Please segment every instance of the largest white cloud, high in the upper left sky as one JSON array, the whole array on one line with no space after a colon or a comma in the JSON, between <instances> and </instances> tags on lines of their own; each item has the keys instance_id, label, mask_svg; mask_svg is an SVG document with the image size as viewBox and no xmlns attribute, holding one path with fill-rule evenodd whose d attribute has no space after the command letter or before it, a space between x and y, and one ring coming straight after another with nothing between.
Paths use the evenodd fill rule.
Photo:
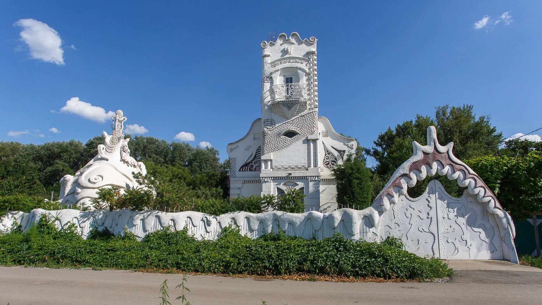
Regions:
<instances>
[{"instance_id":1,"label":"largest white cloud, high in the upper left sky","mask_svg":"<svg viewBox=\"0 0 542 305\"><path fill-rule=\"evenodd\" d=\"M21 41L28 45L30 56L44 62L64 64L62 39L49 25L34 19L20 19L13 25L23 28Z\"/></svg>"}]
</instances>

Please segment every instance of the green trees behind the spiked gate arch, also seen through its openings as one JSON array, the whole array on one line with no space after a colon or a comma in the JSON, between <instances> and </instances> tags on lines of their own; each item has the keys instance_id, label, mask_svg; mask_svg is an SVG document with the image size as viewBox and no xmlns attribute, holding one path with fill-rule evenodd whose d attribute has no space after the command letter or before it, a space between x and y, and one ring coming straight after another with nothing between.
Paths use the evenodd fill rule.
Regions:
<instances>
[{"instance_id":1,"label":"green trees behind the spiked gate arch, also seen through its openings","mask_svg":"<svg viewBox=\"0 0 542 305\"><path fill-rule=\"evenodd\" d=\"M412 156L412 141L425 145L427 127L435 126L441 145L454 142L454 155L461 159L473 155L491 155L502 140L502 133L496 132L486 115L476 117L472 105L450 107L448 105L435 108L435 117L416 115L414 120L404 121L395 129L388 128L380 133L375 146L366 148L365 153L375 158L377 165L373 171L382 181L388 181L401 164ZM435 177L452 196L461 196L464 187L446 177ZM418 181L408 192L411 197L418 197L425 190L431 179Z\"/></svg>"}]
</instances>

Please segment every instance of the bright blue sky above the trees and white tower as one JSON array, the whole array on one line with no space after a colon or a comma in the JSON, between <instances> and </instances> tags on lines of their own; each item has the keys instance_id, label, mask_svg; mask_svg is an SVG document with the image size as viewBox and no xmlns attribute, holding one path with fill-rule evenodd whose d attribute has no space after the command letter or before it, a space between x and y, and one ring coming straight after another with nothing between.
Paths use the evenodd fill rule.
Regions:
<instances>
[{"instance_id":1,"label":"bright blue sky above the trees and white tower","mask_svg":"<svg viewBox=\"0 0 542 305\"><path fill-rule=\"evenodd\" d=\"M227 158L260 117L268 31L318 38L320 115L364 146L446 103L510 137L542 127L540 16L539 1L3 1L0 140L86 142L122 109L144 135L191 133Z\"/></svg>"}]
</instances>

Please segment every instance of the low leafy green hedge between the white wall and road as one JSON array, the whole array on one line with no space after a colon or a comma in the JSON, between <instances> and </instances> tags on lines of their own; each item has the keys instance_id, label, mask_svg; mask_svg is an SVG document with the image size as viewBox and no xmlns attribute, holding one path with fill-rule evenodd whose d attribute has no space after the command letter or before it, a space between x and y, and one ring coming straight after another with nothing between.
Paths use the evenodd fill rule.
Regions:
<instances>
[{"instance_id":1,"label":"low leafy green hedge between the white wall and road","mask_svg":"<svg viewBox=\"0 0 542 305\"><path fill-rule=\"evenodd\" d=\"M397 241L351 241L336 234L321 241L283 233L251 239L225 228L216 241L164 229L138 242L131 233L96 231L83 240L75 226L56 230L42 218L28 231L0 236L0 264L117 269L176 269L215 274L314 274L424 279L451 275L438 259L418 257Z\"/></svg>"}]
</instances>

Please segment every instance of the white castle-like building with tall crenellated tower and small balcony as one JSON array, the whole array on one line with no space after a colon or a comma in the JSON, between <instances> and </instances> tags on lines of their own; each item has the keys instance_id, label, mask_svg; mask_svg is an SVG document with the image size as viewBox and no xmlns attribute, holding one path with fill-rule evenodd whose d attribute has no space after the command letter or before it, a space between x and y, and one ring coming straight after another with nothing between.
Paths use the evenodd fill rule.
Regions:
<instances>
[{"instance_id":1,"label":"white castle-like building with tall crenellated tower and small balcony","mask_svg":"<svg viewBox=\"0 0 542 305\"><path fill-rule=\"evenodd\" d=\"M332 169L356 141L318 116L317 39L298 33L262 42L262 117L228 144L230 197L280 195L301 189L306 210L337 208Z\"/></svg>"}]
</instances>

